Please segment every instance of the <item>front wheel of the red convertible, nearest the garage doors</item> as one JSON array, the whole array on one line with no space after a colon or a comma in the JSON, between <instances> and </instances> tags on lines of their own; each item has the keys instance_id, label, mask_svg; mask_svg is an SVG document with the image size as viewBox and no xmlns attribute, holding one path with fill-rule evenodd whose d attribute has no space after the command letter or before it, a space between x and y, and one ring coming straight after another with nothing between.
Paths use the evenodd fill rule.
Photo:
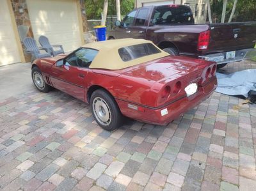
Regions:
<instances>
[{"instance_id":1,"label":"front wheel of the red convertible, nearest the garage doors","mask_svg":"<svg viewBox=\"0 0 256 191\"><path fill-rule=\"evenodd\" d=\"M42 72L37 66L32 68L31 77L38 91L42 91L44 93L50 91L51 86L45 83Z\"/></svg>"}]
</instances>

